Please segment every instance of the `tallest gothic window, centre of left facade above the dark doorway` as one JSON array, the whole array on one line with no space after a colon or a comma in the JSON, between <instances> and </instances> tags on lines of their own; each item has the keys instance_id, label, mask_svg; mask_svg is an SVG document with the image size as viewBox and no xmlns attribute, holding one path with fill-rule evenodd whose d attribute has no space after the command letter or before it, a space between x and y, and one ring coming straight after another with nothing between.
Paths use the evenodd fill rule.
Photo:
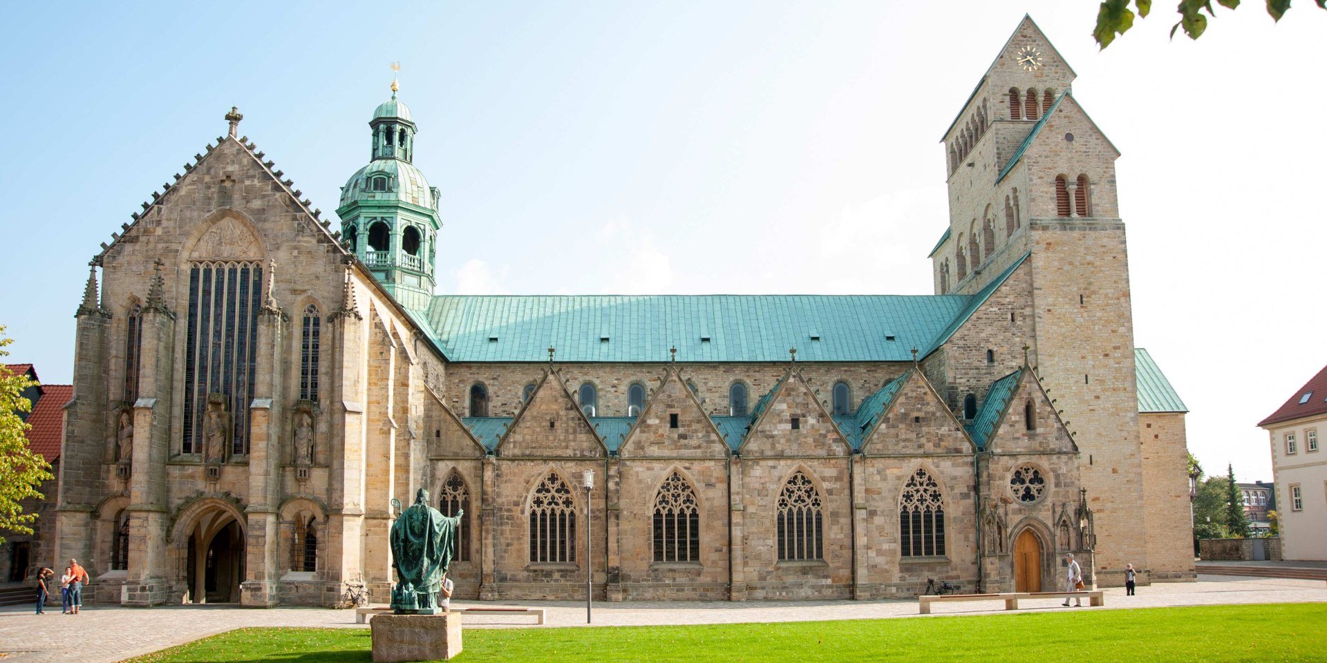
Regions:
<instances>
[{"instance_id":1,"label":"tallest gothic window, centre of left facade above the dark doorway","mask_svg":"<svg viewBox=\"0 0 1327 663\"><path fill-rule=\"evenodd\" d=\"M208 394L224 396L231 415L231 453L248 453L261 282L259 263L195 263L190 268L182 453L203 451Z\"/></svg>"}]
</instances>

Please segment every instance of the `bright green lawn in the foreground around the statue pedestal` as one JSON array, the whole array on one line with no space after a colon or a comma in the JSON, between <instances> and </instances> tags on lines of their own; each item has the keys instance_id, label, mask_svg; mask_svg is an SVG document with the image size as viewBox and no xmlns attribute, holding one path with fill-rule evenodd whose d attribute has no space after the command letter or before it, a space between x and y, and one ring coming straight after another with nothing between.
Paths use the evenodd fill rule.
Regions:
<instances>
[{"instance_id":1,"label":"bright green lawn in the foreground around the statue pedestal","mask_svg":"<svg viewBox=\"0 0 1327 663\"><path fill-rule=\"evenodd\" d=\"M1243 662L1327 660L1327 603L1056 610L922 619L470 629L480 662ZM133 663L368 662L360 629L242 629Z\"/></svg>"}]
</instances>

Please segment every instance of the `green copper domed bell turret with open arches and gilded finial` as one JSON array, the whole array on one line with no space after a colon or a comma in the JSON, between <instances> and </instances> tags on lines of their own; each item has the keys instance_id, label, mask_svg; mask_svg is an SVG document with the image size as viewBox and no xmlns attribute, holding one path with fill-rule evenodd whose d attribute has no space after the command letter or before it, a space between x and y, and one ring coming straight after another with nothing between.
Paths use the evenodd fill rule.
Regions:
<instances>
[{"instance_id":1,"label":"green copper domed bell turret with open arches and gilded finial","mask_svg":"<svg viewBox=\"0 0 1327 663\"><path fill-rule=\"evenodd\" d=\"M341 187L336 213L356 257L397 301L422 310L433 300L442 220L438 190L411 163L418 127L397 90L393 80L391 98L369 119L370 162Z\"/></svg>"}]
</instances>

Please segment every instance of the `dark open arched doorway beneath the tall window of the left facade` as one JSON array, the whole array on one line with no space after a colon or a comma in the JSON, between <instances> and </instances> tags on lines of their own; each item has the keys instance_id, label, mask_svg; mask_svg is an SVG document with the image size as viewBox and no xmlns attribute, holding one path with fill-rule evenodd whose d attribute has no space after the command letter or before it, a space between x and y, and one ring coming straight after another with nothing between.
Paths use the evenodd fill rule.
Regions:
<instances>
[{"instance_id":1,"label":"dark open arched doorway beneath the tall window of the left facade","mask_svg":"<svg viewBox=\"0 0 1327 663\"><path fill-rule=\"evenodd\" d=\"M188 537L186 575L192 603L239 603L244 581L244 528L218 509L204 513Z\"/></svg>"}]
</instances>

